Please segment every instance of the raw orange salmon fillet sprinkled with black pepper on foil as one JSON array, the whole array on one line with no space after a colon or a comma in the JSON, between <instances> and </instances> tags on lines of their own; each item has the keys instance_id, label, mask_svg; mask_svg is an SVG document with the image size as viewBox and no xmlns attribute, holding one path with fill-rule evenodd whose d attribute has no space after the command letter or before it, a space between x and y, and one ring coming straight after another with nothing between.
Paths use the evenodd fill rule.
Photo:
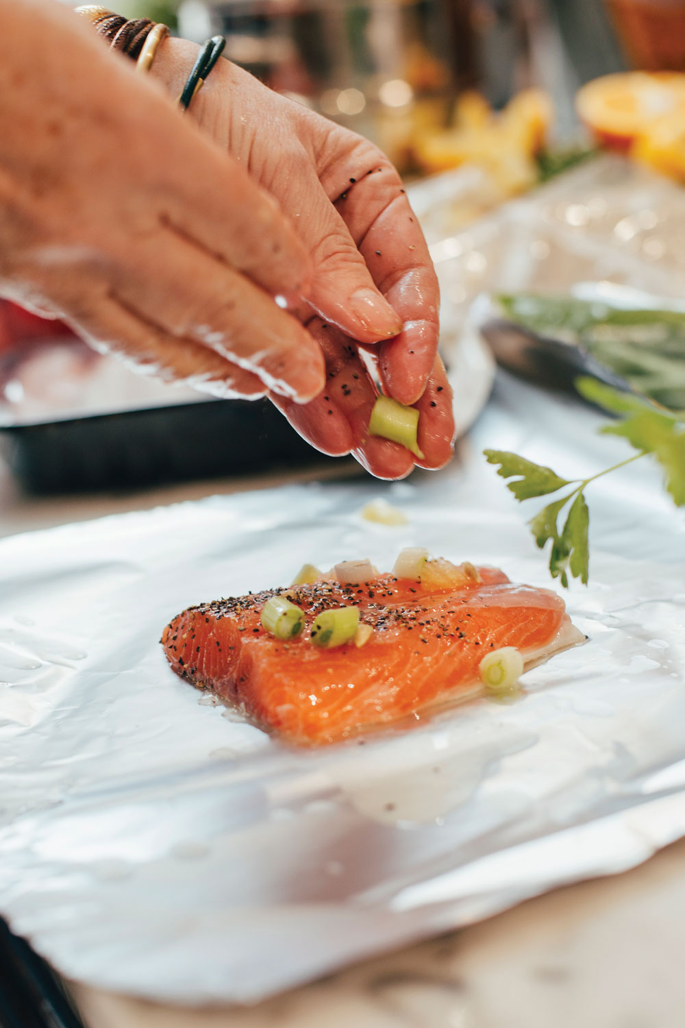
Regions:
<instances>
[{"instance_id":1,"label":"raw orange salmon fillet sprinkled with black pepper on foil","mask_svg":"<svg viewBox=\"0 0 685 1028\"><path fill-rule=\"evenodd\" d=\"M516 647L527 666L581 641L555 592L515 585L479 568L480 582L426 588L390 575L359 585L318 581L192 607L162 634L172 667L290 742L336 742L402 721L479 687L479 664ZM286 595L306 614L295 639L261 624L268 599ZM309 635L321 611L356 605L373 634L330 650Z\"/></svg>"}]
</instances>

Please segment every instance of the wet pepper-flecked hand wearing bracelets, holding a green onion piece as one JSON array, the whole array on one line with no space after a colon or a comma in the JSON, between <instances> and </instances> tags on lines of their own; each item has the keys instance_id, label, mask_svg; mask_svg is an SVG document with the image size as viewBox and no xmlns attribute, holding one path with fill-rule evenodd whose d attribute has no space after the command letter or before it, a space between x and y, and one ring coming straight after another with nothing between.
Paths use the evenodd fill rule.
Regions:
<instances>
[{"instance_id":1,"label":"wet pepper-flecked hand wearing bracelets, holding a green onion piece","mask_svg":"<svg viewBox=\"0 0 685 1028\"><path fill-rule=\"evenodd\" d=\"M181 93L194 44L168 40L155 74ZM452 394L437 347L437 281L397 172L368 140L220 61L190 114L278 200L307 247L313 278L300 317L320 342L327 388L309 404L273 397L324 452L353 452L373 474L401 478L452 455ZM369 437L376 389L416 405L424 460Z\"/></svg>"}]
</instances>

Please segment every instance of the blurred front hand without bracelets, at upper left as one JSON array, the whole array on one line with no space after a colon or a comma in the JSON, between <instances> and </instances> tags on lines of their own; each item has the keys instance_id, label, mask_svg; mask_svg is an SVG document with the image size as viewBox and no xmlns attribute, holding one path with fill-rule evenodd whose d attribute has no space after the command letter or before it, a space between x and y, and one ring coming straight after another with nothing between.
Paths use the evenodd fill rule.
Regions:
<instances>
[{"instance_id":1,"label":"blurred front hand without bracelets, at upper left","mask_svg":"<svg viewBox=\"0 0 685 1028\"><path fill-rule=\"evenodd\" d=\"M216 396L319 394L274 302L310 273L276 203L72 12L0 0L0 295Z\"/></svg>"}]
</instances>

